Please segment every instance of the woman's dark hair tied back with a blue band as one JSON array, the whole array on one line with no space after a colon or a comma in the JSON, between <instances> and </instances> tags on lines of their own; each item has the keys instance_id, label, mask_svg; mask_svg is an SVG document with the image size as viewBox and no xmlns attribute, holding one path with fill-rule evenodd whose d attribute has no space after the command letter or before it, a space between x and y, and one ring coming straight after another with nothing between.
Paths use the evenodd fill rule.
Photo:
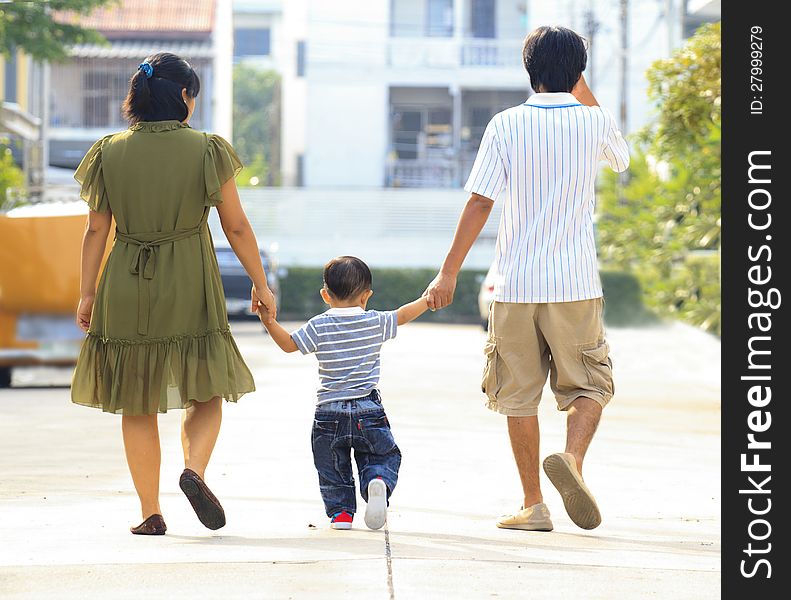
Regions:
<instances>
[{"instance_id":1,"label":"woman's dark hair tied back with a blue band","mask_svg":"<svg viewBox=\"0 0 791 600\"><path fill-rule=\"evenodd\" d=\"M151 65L151 76L139 68L129 80L129 93L121 107L130 125L139 121L183 121L188 110L181 96L195 98L200 92L200 79L190 64L170 52L152 54L143 64ZM147 68L146 68L147 69Z\"/></svg>"}]
</instances>

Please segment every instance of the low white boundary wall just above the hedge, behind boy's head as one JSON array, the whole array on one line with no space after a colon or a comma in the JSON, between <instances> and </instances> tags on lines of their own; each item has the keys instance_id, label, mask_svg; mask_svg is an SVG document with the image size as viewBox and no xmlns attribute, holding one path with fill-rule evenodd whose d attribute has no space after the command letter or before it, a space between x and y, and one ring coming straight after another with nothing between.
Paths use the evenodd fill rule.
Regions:
<instances>
[{"instance_id":1,"label":"low white boundary wall just above the hedge, behind boy's head","mask_svg":"<svg viewBox=\"0 0 791 600\"><path fill-rule=\"evenodd\" d=\"M239 195L259 243L276 242L284 267L319 266L351 254L373 268L436 269L467 200L456 189L240 188ZM498 202L465 269L489 268L501 212ZM214 239L226 243L216 211L209 226Z\"/></svg>"}]
</instances>

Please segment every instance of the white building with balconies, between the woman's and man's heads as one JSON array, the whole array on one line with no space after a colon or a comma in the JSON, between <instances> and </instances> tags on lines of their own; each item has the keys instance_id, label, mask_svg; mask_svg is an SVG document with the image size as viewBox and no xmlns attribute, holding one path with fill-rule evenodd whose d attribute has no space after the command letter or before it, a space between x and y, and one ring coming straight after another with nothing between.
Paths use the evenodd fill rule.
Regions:
<instances>
[{"instance_id":1,"label":"white building with balconies, between the woman's and man's heads","mask_svg":"<svg viewBox=\"0 0 791 600\"><path fill-rule=\"evenodd\" d=\"M525 7L289 0L284 184L459 185L491 116L528 95Z\"/></svg>"}]
</instances>

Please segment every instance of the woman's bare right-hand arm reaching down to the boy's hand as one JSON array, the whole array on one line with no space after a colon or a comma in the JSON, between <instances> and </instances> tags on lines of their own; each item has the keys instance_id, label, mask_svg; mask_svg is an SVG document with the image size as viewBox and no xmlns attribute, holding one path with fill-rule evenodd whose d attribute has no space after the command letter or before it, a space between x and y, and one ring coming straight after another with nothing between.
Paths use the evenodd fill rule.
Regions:
<instances>
[{"instance_id":1,"label":"woman's bare right-hand arm reaching down to the boy's hand","mask_svg":"<svg viewBox=\"0 0 791 600\"><path fill-rule=\"evenodd\" d=\"M236 181L233 178L226 181L220 193L222 202L217 205L217 212L220 215L222 230L248 277L253 281L251 310L256 312L258 310L257 302L260 302L272 314L272 318L275 318L277 316L275 297L269 289L266 273L261 264L258 241L255 239L253 228L250 226L250 221L247 220L247 215L239 200Z\"/></svg>"}]
</instances>

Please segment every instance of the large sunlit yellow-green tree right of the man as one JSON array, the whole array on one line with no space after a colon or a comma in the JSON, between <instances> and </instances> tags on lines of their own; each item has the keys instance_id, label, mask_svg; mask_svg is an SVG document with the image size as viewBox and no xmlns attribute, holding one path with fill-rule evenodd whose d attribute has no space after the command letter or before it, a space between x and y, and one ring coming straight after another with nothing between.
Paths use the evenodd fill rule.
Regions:
<instances>
[{"instance_id":1,"label":"large sunlit yellow-green tree right of the man","mask_svg":"<svg viewBox=\"0 0 791 600\"><path fill-rule=\"evenodd\" d=\"M634 273L646 304L720 331L720 24L701 27L647 73L654 122L635 138L629 178L607 174L599 245L606 268Z\"/></svg>"}]
</instances>

